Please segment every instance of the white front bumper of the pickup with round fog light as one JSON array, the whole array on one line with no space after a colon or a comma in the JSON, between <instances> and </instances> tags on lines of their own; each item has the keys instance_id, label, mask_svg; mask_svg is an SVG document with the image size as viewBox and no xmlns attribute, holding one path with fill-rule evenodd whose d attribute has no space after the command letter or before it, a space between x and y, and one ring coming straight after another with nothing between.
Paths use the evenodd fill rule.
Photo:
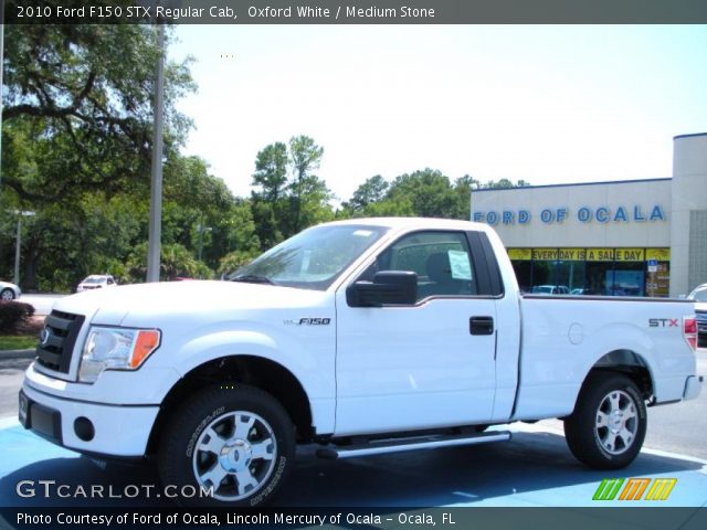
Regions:
<instances>
[{"instance_id":1,"label":"white front bumper of the pickup with round fog light","mask_svg":"<svg viewBox=\"0 0 707 530\"><path fill-rule=\"evenodd\" d=\"M54 444L92 455L144 456L158 412L156 405L108 405L56 398L27 383L20 392L20 423L25 428Z\"/></svg>"}]
</instances>

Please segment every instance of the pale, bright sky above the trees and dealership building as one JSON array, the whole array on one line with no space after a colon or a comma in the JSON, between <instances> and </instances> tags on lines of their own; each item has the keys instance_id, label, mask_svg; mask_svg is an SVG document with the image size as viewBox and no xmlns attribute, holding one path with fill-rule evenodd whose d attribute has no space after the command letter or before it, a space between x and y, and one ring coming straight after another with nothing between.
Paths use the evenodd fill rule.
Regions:
<instances>
[{"instance_id":1,"label":"pale, bright sky above the trees and dealership building","mask_svg":"<svg viewBox=\"0 0 707 530\"><path fill-rule=\"evenodd\" d=\"M672 176L707 131L707 25L179 25L198 93L184 155L250 194L255 157L307 135L348 200L418 169L531 184Z\"/></svg>"}]
</instances>

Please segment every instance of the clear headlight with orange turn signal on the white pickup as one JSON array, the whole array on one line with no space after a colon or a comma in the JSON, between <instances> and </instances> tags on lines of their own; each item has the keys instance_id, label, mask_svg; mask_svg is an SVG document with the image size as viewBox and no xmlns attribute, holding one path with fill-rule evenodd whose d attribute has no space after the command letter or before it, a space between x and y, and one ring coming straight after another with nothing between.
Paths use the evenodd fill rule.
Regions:
<instances>
[{"instance_id":1,"label":"clear headlight with orange turn signal on the white pickup","mask_svg":"<svg viewBox=\"0 0 707 530\"><path fill-rule=\"evenodd\" d=\"M159 347L156 329L92 327L81 356L78 380L93 383L104 370L135 370Z\"/></svg>"}]
</instances>

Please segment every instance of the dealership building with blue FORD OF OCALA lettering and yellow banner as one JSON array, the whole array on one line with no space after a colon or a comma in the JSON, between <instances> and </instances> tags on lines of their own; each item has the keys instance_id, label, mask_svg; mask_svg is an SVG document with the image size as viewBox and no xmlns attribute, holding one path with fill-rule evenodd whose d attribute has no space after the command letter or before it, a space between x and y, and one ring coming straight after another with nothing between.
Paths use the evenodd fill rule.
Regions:
<instances>
[{"instance_id":1,"label":"dealership building with blue FORD OF OCALA lettering and yellow banner","mask_svg":"<svg viewBox=\"0 0 707 530\"><path fill-rule=\"evenodd\" d=\"M496 229L525 292L689 293L707 283L707 132L673 141L671 178L475 190L472 220Z\"/></svg>"}]
</instances>

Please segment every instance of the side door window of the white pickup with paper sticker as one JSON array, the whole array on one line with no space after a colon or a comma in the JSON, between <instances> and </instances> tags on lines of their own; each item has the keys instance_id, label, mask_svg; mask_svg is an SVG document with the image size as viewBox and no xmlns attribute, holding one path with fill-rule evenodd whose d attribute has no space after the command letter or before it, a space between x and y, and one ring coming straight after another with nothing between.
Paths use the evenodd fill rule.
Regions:
<instances>
[{"instance_id":1,"label":"side door window of the white pickup with paper sticker","mask_svg":"<svg viewBox=\"0 0 707 530\"><path fill-rule=\"evenodd\" d=\"M415 232L383 251L360 279L372 279L379 271L412 271L418 274L418 301L472 296L477 287L469 254L461 232Z\"/></svg>"}]
</instances>

